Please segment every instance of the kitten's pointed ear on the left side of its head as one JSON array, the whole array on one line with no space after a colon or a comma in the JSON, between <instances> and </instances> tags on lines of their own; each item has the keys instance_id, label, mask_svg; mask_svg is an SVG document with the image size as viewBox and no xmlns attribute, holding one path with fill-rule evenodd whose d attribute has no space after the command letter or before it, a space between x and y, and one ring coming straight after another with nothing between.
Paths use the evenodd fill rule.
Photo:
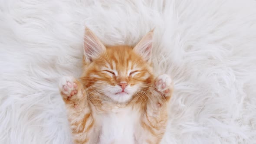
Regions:
<instances>
[{"instance_id":1,"label":"kitten's pointed ear on the left side of its head","mask_svg":"<svg viewBox=\"0 0 256 144\"><path fill-rule=\"evenodd\" d=\"M86 62L92 62L94 58L97 58L102 52L105 51L105 46L95 36L94 33L87 27L85 28L84 35L84 55Z\"/></svg>"}]
</instances>

